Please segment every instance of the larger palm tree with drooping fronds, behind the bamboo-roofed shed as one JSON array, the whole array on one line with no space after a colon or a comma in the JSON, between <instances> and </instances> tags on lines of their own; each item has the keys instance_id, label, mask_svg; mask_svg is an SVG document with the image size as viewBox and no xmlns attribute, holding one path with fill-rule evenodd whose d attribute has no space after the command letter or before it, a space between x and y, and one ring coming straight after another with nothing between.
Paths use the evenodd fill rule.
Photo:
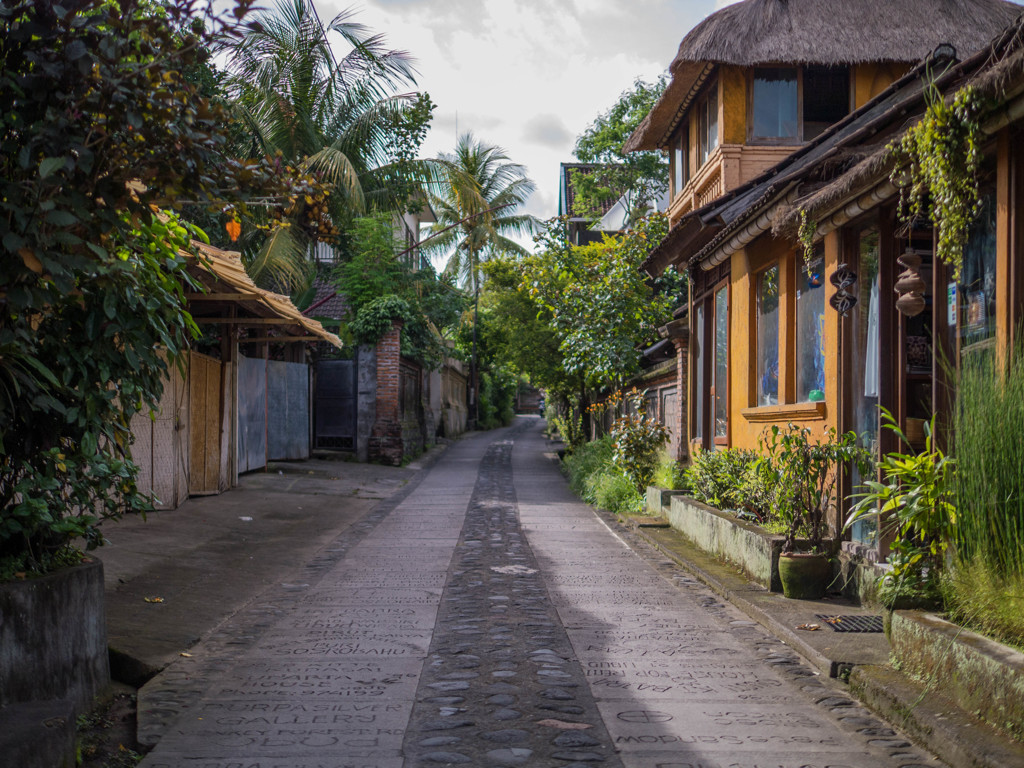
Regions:
<instances>
[{"instance_id":1,"label":"larger palm tree with drooping fronds, behind the bamboo-roofed shed","mask_svg":"<svg viewBox=\"0 0 1024 768\"><path fill-rule=\"evenodd\" d=\"M326 206L335 229L369 210L401 207L409 185L395 183L396 157L408 147L396 146L395 129L423 103L419 94L397 92L416 84L409 54L388 49L351 16L344 11L324 25L312 0L279 0L227 49L237 154L280 154L285 164L332 184ZM340 59L332 34L348 49ZM408 167L402 171L408 177ZM308 281L315 237L262 223L270 224L270 236L251 233L243 248L252 276L291 289Z\"/></svg>"}]
</instances>

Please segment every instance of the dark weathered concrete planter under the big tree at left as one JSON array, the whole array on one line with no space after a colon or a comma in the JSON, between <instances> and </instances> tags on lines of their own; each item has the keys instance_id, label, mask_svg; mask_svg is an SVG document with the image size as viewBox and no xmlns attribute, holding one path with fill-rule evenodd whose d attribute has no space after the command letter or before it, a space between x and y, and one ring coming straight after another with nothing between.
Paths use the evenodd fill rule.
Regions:
<instances>
[{"instance_id":1,"label":"dark weathered concrete planter under the big tree at left","mask_svg":"<svg viewBox=\"0 0 1024 768\"><path fill-rule=\"evenodd\" d=\"M82 713L110 678L99 560L0 584L0 707L66 699Z\"/></svg>"}]
</instances>

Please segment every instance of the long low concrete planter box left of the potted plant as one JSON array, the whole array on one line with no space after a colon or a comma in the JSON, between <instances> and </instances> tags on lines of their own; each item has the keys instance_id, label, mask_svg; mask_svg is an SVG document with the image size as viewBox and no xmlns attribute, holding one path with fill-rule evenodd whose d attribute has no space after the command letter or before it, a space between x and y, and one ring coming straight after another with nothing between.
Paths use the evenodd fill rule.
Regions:
<instances>
[{"instance_id":1,"label":"long low concrete planter box left of the potted plant","mask_svg":"<svg viewBox=\"0 0 1024 768\"><path fill-rule=\"evenodd\" d=\"M672 497L668 516L672 527L705 552L738 565L752 581L766 589L782 591L778 556L785 537L769 534L759 525L737 520L686 496ZM831 548L830 540L824 543Z\"/></svg>"}]
</instances>

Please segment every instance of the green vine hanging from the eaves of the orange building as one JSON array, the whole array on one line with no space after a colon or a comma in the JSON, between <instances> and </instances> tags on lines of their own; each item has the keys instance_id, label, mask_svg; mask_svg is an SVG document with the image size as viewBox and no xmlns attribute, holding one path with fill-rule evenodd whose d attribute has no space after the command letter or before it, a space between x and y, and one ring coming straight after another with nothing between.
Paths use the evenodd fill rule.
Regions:
<instances>
[{"instance_id":1,"label":"green vine hanging from the eaves of the orange building","mask_svg":"<svg viewBox=\"0 0 1024 768\"><path fill-rule=\"evenodd\" d=\"M928 109L898 141L889 145L896 160L890 176L900 189L903 222L931 219L939 230L936 255L959 281L971 222L980 212L978 170L981 166L981 95L974 86L946 101L929 86Z\"/></svg>"}]
</instances>

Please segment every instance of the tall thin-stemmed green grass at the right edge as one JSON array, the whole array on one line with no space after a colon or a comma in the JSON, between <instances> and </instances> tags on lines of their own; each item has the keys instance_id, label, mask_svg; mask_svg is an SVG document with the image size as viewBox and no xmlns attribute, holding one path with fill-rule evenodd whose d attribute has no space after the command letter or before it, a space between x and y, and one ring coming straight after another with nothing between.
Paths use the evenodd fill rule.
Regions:
<instances>
[{"instance_id":1,"label":"tall thin-stemmed green grass at the right edge","mask_svg":"<svg viewBox=\"0 0 1024 768\"><path fill-rule=\"evenodd\" d=\"M989 354L964 360L952 447L957 560L1024 575L1024 344L1005 368Z\"/></svg>"}]
</instances>

